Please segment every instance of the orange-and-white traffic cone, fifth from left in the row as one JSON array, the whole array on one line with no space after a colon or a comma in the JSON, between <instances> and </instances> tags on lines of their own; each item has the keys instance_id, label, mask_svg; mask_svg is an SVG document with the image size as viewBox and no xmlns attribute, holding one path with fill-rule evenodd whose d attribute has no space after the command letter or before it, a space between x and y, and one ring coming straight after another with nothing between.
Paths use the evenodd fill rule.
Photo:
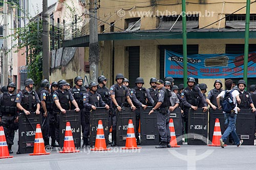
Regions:
<instances>
[{"instance_id":1,"label":"orange-and-white traffic cone, fifth from left in the row","mask_svg":"<svg viewBox=\"0 0 256 170\"><path fill-rule=\"evenodd\" d=\"M133 120L129 119L125 148L122 148L122 150L131 150L131 149L141 149L141 147L137 147L134 128L133 128Z\"/></svg>"}]
</instances>

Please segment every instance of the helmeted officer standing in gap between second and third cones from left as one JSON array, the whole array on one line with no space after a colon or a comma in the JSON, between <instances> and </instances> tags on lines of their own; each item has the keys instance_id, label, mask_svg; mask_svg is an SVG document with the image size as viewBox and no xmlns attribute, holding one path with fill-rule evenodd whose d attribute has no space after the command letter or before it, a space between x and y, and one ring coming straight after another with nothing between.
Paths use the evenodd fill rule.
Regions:
<instances>
[{"instance_id":1,"label":"helmeted officer standing in gap between second and third cones from left","mask_svg":"<svg viewBox=\"0 0 256 170\"><path fill-rule=\"evenodd\" d=\"M50 83L47 79L41 80L40 89L40 101L41 101L41 113L42 113L42 137L45 141L45 146L49 145L49 111L53 109L53 103L48 93Z\"/></svg>"}]
</instances>

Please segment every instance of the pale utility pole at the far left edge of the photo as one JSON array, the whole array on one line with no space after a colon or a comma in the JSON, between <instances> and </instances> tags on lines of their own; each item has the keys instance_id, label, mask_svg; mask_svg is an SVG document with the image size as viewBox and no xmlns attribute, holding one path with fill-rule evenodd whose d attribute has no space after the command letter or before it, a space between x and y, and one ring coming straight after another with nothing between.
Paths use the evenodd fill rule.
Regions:
<instances>
[{"instance_id":1,"label":"pale utility pole at the far left edge of the photo","mask_svg":"<svg viewBox=\"0 0 256 170\"><path fill-rule=\"evenodd\" d=\"M4 46L3 46L3 82L2 87L7 86L8 84L8 9L7 9L7 0L4 0Z\"/></svg>"}]
</instances>

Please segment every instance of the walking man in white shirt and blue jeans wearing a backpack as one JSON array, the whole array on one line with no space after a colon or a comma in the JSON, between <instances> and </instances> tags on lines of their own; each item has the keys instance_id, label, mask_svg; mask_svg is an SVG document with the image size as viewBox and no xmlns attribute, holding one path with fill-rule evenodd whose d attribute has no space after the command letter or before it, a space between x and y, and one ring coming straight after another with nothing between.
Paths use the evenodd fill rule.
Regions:
<instances>
[{"instance_id":1,"label":"walking man in white shirt and blue jeans wearing a backpack","mask_svg":"<svg viewBox=\"0 0 256 170\"><path fill-rule=\"evenodd\" d=\"M227 91L231 91L232 84L233 84L233 81L231 79L228 79L225 81L225 86L227 88ZM232 111L234 111L235 114L232 114L232 111L231 111L231 113L224 113L228 119L228 127L225 130L224 134L220 138L221 148L224 148L224 142L226 141L226 139L230 133L234 139L234 143L238 147L240 147L240 145L243 143L243 140L239 140L238 134L236 132L236 120L237 120L237 114L238 114L237 103L240 104L241 99L239 98L238 90L233 90L231 92L231 94L233 97L233 103L236 104L236 107L232 110ZM221 110L220 98L224 98L224 96L225 96L224 90L217 96L217 104L218 104L218 108L220 110Z\"/></svg>"}]
</instances>

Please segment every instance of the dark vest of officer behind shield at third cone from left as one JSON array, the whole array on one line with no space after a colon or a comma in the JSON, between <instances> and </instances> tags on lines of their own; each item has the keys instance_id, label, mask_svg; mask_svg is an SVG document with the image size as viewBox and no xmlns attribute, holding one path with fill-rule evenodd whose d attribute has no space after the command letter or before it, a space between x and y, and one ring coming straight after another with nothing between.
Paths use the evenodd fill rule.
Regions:
<instances>
[{"instance_id":1,"label":"dark vest of officer behind shield at third cone from left","mask_svg":"<svg viewBox=\"0 0 256 170\"><path fill-rule=\"evenodd\" d=\"M65 90L63 93L61 92L61 90L56 90L56 92L58 93L58 98L59 98L59 104L60 106L65 109L65 110L69 110L70 109L70 104L69 104L69 91ZM55 112L60 112L60 110L57 108L56 104L53 107L53 110Z\"/></svg>"}]
</instances>

